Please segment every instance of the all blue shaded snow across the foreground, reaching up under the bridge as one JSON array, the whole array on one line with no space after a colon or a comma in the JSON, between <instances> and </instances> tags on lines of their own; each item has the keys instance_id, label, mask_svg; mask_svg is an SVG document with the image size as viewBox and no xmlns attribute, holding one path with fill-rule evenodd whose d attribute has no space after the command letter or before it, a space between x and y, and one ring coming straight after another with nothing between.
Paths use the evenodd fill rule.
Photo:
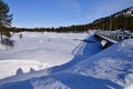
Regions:
<instances>
[{"instance_id":1,"label":"all blue shaded snow across the foreground, reaching up under the bridge","mask_svg":"<svg viewBox=\"0 0 133 89\"><path fill-rule=\"evenodd\" d=\"M94 36L89 36L76 46L72 55L71 61L48 68L47 71L37 71L40 73L38 76L37 72L23 73L2 79L0 88L133 89L133 39L102 50L101 43ZM28 75L33 76L28 77Z\"/></svg>"}]
</instances>

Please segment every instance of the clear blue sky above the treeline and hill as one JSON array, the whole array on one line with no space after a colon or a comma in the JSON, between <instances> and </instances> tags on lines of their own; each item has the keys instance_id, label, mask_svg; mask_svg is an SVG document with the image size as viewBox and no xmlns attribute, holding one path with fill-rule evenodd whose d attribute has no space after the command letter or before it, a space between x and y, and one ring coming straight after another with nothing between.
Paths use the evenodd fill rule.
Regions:
<instances>
[{"instance_id":1,"label":"clear blue sky above the treeline and hill","mask_svg":"<svg viewBox=\"0 0 133 89\"><path fill-rule=\"evenodd\" d=\"M24 28L90 23L133 6L133 0L4 0L12 26Z\"/></svg>"}]
</instances>

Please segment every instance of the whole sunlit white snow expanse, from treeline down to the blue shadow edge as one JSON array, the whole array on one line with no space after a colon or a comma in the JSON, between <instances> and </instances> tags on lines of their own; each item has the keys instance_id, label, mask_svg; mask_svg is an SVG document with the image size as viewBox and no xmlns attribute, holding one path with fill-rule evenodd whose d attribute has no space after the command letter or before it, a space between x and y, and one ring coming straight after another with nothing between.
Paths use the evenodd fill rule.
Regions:
<instances>
[{"instance_id":1,"label":"whole sunlit white snow expanse, from treeline down to the blue shadow edge","mask_svg":"<svg viewBox=\"0 0 133 89\"><path fill-rule=\"evenodd\" d=\"M29 72L59 66L73 58L72 50L88 33L22 32L12 34L14 47L0 44L0 79L16 75L17 69Z\"/></svg>"}]
</instances>

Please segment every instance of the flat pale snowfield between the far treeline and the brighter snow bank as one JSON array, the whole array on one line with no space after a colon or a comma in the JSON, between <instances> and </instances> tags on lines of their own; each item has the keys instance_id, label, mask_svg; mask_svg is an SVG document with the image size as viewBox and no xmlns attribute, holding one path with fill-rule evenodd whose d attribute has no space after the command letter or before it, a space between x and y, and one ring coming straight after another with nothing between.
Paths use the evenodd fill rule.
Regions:
<instances>
[{"instance_id":1,"label":"flat pale snowfield between the far treeline and the brighter snow bank","mask_svg":"<svg viewBox=\"0 0 133 89\"><path fill-rule=\"evenodd\" d=\"M11 39L16 41L14 48L0 51L1 60L28 59L58 66L72 59L71 51L80 43L86 33L22 33L22 39L14 34ZM69 49L68 49L69 48ZM48 60L54 59L54 60ZM63 59L63 60L62 60Z\"/></svg>"}]
</instances>

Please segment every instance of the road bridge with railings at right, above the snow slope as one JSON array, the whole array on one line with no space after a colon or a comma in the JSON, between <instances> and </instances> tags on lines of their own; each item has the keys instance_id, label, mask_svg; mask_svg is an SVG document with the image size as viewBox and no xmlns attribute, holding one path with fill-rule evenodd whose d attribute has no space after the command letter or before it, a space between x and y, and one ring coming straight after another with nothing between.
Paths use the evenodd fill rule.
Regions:
<instances>
[{"instance_id":1,"label":"road bridge with railings at right, above the snow slope","mask_svg":"<svg viewBox=\"0 0 133 89\"><path fill-rule=\"evenodd\" d=\"M96 31L95 37L102 42L104 41L103 48L114 44L125 39L132 39L133 34L124 31Z\"/></svg>"}]
</instances>

